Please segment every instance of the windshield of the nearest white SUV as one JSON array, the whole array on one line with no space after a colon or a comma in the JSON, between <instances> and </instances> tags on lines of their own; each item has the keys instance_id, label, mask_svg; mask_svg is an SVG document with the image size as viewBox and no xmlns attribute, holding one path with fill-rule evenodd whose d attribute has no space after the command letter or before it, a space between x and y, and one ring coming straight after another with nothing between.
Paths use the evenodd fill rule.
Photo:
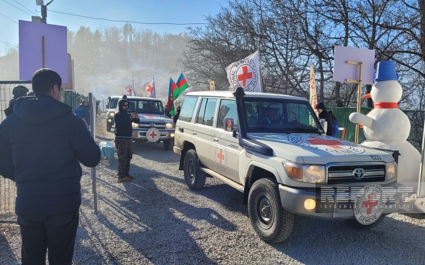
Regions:
<instances>
[{"instance_id":1,"label":"windshield of the nearest white SUV","mask_svg":"<svg viewBox=\"0 0 425 265\"><path fill-rule=\"evenodd\" d=\"M307 101L245 98L247 132L323 133Z\"/></svg>"}]
</instances>

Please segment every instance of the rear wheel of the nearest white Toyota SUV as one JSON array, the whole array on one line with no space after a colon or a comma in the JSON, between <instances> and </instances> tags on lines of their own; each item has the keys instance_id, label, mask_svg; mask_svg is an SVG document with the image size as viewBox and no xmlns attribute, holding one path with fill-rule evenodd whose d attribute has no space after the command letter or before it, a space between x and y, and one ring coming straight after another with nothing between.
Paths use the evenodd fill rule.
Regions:
<instances>
[{"instance_id":1,"label":"rear wheel of the nearest white Toyota SUV","mask_svg":"<svg viewBox=\"0 0 425 265\"><path fill-rule=\"evenodd\" d=\"M198 161L195 150L190 149L186 152L183 163L184 180L192 190L201 189L205 184L206 173L199 169Z\"/></svg>"}]
</instances>

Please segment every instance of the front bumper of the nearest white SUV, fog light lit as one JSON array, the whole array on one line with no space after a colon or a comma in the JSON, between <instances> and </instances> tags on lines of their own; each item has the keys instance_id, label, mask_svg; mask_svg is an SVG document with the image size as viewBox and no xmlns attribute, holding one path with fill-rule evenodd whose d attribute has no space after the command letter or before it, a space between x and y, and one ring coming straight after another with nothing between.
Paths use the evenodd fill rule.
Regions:
<instances>
[{"instance_id":1,"label":"front bumper of the nearest white SUV, fog light lit","mask_svg":"<svg viewBox=\"0 0 425 265\"><path fill-rule=\"evenodd\" d=\"M398 194L387 199L391 191L403 190L403 185L398 182L381 185L384 190L384 207L382 214L396 212L402 208L403 197L407 194ZM354 200L361 187L321 187L299 188L279 184L279 193L282 207L295 214L311 216L321 219L351 219L354 218ZM388 191L388 192L386 192ZM401 192L401 191L400 191ZM312 210L304 208L306 199L314 199L316 207Z\"/></svg>"}]
</instances>

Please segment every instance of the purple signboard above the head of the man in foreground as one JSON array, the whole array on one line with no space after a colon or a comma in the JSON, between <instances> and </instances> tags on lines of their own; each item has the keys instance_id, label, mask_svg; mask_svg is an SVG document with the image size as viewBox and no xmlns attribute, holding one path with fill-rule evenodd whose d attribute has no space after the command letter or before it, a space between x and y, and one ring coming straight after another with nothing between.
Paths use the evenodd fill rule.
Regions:
<instances>
[{"instance_id":1,"label":"purple signboard above the head of the man in foreground","mask_svg":"<svg viewBox=\"0 0 425 265\"><path fill-rule=\"evenodd\" d=\"M19 79L31 80L42 67L68 81L66 26L19 20Z\"/></svg>"}]
</instances>

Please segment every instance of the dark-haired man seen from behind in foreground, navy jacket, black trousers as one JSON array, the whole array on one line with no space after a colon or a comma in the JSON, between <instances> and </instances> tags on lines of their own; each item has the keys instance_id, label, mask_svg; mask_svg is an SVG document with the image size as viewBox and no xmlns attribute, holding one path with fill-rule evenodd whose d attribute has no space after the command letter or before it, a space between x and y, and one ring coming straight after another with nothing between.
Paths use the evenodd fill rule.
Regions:
<instances>
[{"instance_id":1,"label":"dark-haired man seen from behind in foreground, navy jacket, black trousers","mask_svg":"<svg viewBox=\"0 0 425 265\"><path fill-rule=\"evenodd\" d=\"M21 263L71 264L81 204L81 166L94 167L100 149L84 122L60 102L62 80L41 68L35 96L15 100L0 124L0 175L16 183Z\"/></svg>"}]
</instances>

